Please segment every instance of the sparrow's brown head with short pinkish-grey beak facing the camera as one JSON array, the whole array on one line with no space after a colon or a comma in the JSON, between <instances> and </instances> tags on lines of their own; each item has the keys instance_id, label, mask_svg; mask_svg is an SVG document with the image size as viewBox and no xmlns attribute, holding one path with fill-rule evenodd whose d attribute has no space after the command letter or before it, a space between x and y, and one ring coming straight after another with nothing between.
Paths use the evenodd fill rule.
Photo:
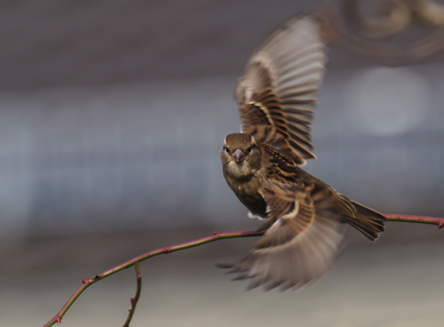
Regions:
<instances>
[{"instance_id":1,"label":"sparrow's brown head with short pinkish-grey beak facing the camera","mask_svg":"<svg viewBox=\"0 0 444 327\"><path fill-rule=\"evenodd\" d=\"M254 137L248 134L229 134L221 151L223 169L231 177L247 177L261 166L261 152Z\"/></svg>"}]
</instances>

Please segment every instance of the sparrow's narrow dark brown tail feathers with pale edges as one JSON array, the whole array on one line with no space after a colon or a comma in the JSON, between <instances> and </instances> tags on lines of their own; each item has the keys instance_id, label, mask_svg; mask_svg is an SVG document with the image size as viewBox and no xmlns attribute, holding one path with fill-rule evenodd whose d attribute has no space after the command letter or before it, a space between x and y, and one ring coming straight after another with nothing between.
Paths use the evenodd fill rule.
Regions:
<instances>
[{"instance_id":1,"label":"sparrow's narrow dark brown tail feathers with pale edges","mask_svg":"<svg viewBox=\"0 0 444 327\"><path fill-rule=\"evenodd\" d=\"M344 210L345 208L341 208L342 210L340 210L341 213L345 213L341 216L345 219L346 223L352 225L372 241L376 240L379 234L384 232L384 222L387 221L387 217L382 213L378 213L346 197L343 197L341 200L343 201L339 201L340 207L342 207L342 205L346 205L347 207L347 210Z\"/></svg>"}]
</instances>

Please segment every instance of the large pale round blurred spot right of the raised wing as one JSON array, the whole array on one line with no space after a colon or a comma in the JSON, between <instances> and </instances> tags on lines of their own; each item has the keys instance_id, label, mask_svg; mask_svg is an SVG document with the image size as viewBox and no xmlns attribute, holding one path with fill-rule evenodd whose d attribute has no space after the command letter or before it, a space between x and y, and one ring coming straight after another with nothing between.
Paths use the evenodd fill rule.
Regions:
<instances>
[{"instance_id":1,"label":"large pale round blurred spot right of the raised wing","mask_svg":"<svg viewBox=\"0 0 444 327\"><path fill-rule=\"evenodd\" d=\"M395 135L412 130L429 109L427 82L405 67L359 71L345 92L349 120L363 134Z\"/></svg>"}]
</instances>

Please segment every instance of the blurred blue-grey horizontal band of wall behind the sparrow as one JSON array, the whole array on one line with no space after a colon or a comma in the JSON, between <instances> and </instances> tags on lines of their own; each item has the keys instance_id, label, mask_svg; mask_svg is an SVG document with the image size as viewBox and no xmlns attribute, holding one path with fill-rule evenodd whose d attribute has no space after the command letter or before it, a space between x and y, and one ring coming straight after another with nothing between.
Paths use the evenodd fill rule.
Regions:
<instances>
[{"instance_id":1,"label":"blurred blue-grey horizontal band of wall behind the sparrow","mask_svg":"<svg viewBox=\"0 0 444 327\"><path fill-rule=\"evenodd\" d=\"M328 71L305 167L393 213L444 213L444 66ZM2 92L0 234L236 223L219 151L235 77Z\"/></svg>"}]
</instances>

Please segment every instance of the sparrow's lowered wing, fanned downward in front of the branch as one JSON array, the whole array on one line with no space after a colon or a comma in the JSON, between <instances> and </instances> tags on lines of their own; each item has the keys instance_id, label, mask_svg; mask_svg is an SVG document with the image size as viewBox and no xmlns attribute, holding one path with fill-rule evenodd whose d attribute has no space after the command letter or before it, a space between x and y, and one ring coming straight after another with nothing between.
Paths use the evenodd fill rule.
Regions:
<instances>
[{"instance_id":1,"label":"sparrow's lowered wing, fanned downward in front of the branch","mask_svg":"<svg viewBox=\"0 0 444 327\"><path fill-rule=\"evenodd\" d=\"M266 182L262 195L274 224L255 247L232 266L237 279L252 279L249 289L301 287L321 278L344 245L345 224L334 216L328 189Z\"/></svg>"}]
</instances>

